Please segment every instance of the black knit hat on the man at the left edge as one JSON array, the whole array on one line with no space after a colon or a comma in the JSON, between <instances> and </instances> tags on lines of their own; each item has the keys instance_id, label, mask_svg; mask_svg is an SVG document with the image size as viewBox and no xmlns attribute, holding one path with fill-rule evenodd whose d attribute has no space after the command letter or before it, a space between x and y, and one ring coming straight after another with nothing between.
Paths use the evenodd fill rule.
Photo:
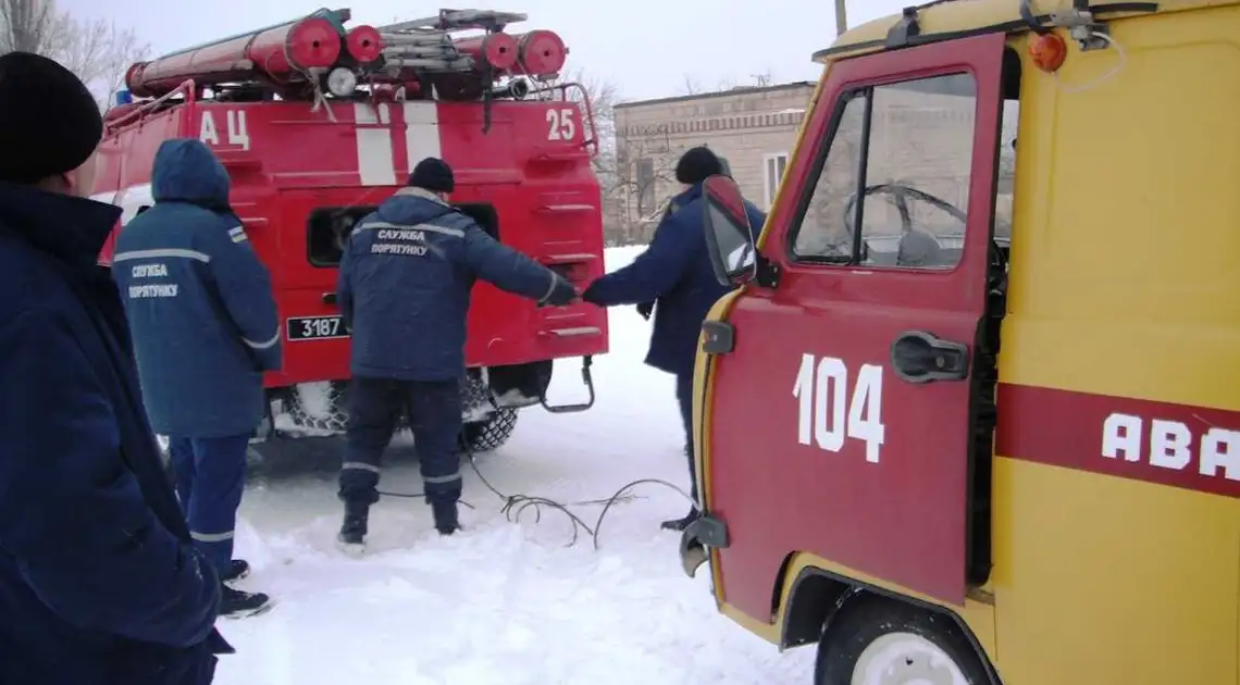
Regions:
<instances>
[{"instance_id":1,"label":"black knit hat on the man at the left edge","mask_svg":"<svg viewBox=\"0 0 1240 685\"><path fill-rule=\"evenodd\" d=\"M68 173L102 139L99 105L73 72L30 52L0 56L0 181Z\"/></svg>"}]
</instances>

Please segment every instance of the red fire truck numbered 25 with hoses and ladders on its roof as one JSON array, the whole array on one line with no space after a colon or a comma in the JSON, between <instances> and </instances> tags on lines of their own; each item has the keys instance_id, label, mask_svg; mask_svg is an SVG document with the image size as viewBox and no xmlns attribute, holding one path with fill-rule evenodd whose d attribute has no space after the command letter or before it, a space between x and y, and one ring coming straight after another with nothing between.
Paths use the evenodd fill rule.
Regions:
<instances>
[{"instance_id":1,"label":"red fire truck numbered 25 with hoses and ladders on its roof","mask_svg":"<svg viewBox=\"0 0 1240 685\"><path fill-rule=\"evenodd\" d=\"M231 203L283 318L284 368L265 378L272 410L259 440L343 430L341 250L424 157L454 167L453 202L492 237L575 284L604 270L594 120L584 89L558 81L568 53L558 35L507 33L526 16L495 11L441 10L383 27L347 28L350 19L347 9L319 10L134 64L125 83L136 99L122 93L129 102L108 111L95 156L93 197L123 207L122 224L153 203L164 140L198 137L228 170ZM463 379L471 448L507 440L518 408L589 408L590 358L606 346L601 308L537 307L479 284ZM589 400L549 405L553 362L578 357Z\"/></svg>"}]
</instances>

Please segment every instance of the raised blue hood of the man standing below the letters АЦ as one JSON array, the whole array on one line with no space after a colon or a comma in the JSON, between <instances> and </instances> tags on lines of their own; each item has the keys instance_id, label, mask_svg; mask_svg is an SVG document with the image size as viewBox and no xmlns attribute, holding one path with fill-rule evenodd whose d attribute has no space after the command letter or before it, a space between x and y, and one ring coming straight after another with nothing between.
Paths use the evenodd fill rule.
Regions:
<instances>
[{"instance_id":1,"label":"raised blue hood of the man standing below the letters \u0410\u0426","mask_svg":"<svg viewBox=\"0 0 1240 685\"><path fill-rule=\"evenodd\" d=\"M165 140L155 152L151 196L155 202L187 202L212 209L228 208L228 172L201 140Z\"/></svg>"}]
</instances>

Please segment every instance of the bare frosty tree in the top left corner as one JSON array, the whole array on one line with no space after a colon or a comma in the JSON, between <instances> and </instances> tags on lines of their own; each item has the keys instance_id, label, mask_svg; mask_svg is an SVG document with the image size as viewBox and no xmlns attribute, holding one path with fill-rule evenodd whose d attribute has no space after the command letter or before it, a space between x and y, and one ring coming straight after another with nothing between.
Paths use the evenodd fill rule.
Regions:
<instances>
[{"instance_id":1,"label":"bare frosty tree in the top left corner","mask_svg":"<svg viewBox=\"0 0 1240 685\"><path fill-rule=\"evenodd\" d=\"M149 46L113 21L78 19L56 0L0 0L0 52L20 50L56 59L78 74L100 102Z\"/></svg>"}]
</instances>

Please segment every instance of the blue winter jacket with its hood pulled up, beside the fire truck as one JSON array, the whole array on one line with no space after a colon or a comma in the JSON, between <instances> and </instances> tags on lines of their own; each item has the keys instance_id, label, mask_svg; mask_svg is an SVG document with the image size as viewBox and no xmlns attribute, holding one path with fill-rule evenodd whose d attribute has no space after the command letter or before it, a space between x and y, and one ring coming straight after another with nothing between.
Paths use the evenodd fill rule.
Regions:
<instances>
[{"instance_id":1,"label":"blue winter jacket with its hood pulled up, beside the fire truck","mask_svg":"<svg viewBox=\"0 0 1240 685\"><path fill-rule=\"evenodd\" d=\"M120 230L113 256L146 411L164 435L247 435L265 414L263 372L281 362L270 276L206 145L165 141L151 194L155 206Z\"/></svg>"}]
</instances>

